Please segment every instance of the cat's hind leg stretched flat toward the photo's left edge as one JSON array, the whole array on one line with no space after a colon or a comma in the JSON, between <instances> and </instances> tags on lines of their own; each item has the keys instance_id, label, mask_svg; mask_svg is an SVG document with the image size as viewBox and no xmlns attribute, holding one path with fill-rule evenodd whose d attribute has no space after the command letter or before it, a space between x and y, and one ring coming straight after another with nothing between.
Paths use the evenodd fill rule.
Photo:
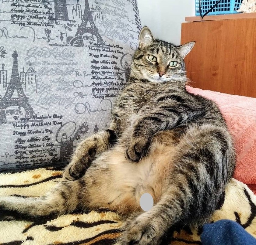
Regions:
<instances>
[{"instance_id":1,"label":"cat's hind leg stretched flat toward the photo's left edge","mask_svg":"<svg viewBox=\"0 0 256 245\"><path fill-rule=\"evenodd\" d=\"M80 180L59 182L43 197L0 197L0 216L15 219L56 217L73 212L79 207Z\"/></svg>"}]
</instances>

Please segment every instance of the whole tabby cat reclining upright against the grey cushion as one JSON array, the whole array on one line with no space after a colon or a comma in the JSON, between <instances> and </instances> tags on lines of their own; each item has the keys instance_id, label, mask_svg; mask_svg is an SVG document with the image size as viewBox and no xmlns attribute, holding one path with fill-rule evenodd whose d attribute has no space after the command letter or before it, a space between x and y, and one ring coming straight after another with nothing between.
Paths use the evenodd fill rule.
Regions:
<instances>
[{"instance_id":1,"label":"whole tabby cat reclining upright against the grey cushion","mask_svg":"<svg viewBox=\"0 0 256 245\"><path fill-rule=\"evenodd\" d=\"M108 209L126 220L119 242L140 245L163 244L171 227L206 222L233 174L235 153L217 105L185 89L183 60L194 44L175 46L144 27L109 127L82 141L47 196L0 197L2 213ZM139 204L144 193L154 200L148 212Z\"/></svg>"}]
</instances>

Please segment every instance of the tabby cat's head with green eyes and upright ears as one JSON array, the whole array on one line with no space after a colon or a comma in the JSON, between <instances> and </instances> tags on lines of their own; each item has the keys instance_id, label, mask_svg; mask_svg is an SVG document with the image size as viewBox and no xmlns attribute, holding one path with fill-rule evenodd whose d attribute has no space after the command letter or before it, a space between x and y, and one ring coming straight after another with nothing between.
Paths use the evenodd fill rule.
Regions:
<instances>
[{"instance_id":1,"label":"tabby cat's head with green eyes and upright ears","mask_svg":"<svg viewBox=\"0 0 256 245\"><path fill-rule=\"evenodd\" d=\"M175 46L155 39L148 27L139 35L139 48L132 62L132 76L150 82L163 83L171 80L186 82L184 58L195 42Z\"/></svg>"}]
</instances>

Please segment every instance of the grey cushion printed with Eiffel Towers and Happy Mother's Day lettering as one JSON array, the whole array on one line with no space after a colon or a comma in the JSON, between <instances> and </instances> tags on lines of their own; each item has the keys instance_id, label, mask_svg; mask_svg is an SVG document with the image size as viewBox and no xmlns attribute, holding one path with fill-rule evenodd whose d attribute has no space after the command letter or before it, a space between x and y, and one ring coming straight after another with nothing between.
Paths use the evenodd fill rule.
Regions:
<instances>
[{"instance_id":1,"label":"grey cushion printed with Eiffel Towers and Happy Mother's Day lettering","mask_svg":"<svg viewBox=\"0 0 256 245\"><path fill-rule=\"evenodd\" d=\"M140 29L136 0L1 3L0 171L67 161L105 127Z\"/></svg>"}]
</instances>

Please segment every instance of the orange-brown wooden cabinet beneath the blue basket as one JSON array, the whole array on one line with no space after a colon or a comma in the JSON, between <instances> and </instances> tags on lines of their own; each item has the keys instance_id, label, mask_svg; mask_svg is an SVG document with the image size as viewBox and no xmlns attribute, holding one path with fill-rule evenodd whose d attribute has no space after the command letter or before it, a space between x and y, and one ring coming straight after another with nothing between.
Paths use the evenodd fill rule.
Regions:
<instances>
[{"instance_id":1,"label":"orange-brown wooden cabinet beneath the blue basket","mask_svg":"<svg viewBox=\"0 0 256 245\"><path fill-rule=\"evenodd\" d=\"M256 13L207 18L182 23L181 43L196 42L185 58L190 85L256 97Z\"/></svg>"}]
</instances>

